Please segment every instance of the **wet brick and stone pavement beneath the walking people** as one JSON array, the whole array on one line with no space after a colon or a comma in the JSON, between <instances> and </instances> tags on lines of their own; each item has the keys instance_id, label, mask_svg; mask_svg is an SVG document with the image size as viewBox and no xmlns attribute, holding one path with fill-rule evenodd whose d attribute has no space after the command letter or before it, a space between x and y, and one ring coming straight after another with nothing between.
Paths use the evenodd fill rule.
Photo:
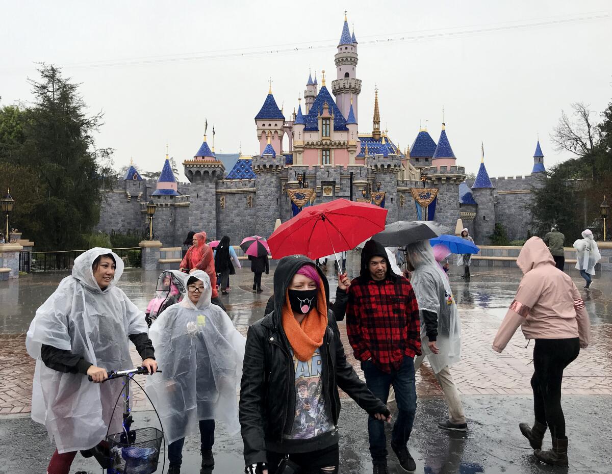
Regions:
<instances>
[{"instance_id":1,"label":"wet brick and stone pavement beneath the walking people","mask_svg":"<svg viewBox=\"0 0 612 474\"><path fill-rule=\"evenodd\" d=\"M349 252L349 276L356 275L359 254ZM332 265L327 269L333 278ZM248 263L247 263L248 267ZM249 268L237 270L231 277L232 289L222 296L234 325L243 334L253 321L263 316L272 294L272 273L263 275L261 294L252 291ZM594 472L610 473L612 449L607 426L612 415L612 275L594 280L594 290L582 290L583 280L576 270L569 274L581 289L591 316L593 341L582 350L565 371L564 409L570 437L569 470L555 470L536 464L528 444L518 432L519 421L532 419L531 387L532 344L520 331L510 341L504 354L491 350L491 341L502 317L512 302L520 281L518 268L474 268L471 283L458 276L451 267L450 280L458 302L462 324L462 360L453 366L452 374L463 395L471 430L465 437L453 437L438 431L435 422L446 413L441 390L433 372L424 364L417 371L419 412L411 441L411 451L418 454L419 473L476 472ZM567 271L567 270L566 270ZM28 275L19 280L0 282L0 473L44 472L48 446L44 428L28 418L34 361L23 346L24 332L35 309L54 291L65 274ZM158 272L126 270L119 286L140 308L146 307L154 294ZM330 281L335 288L335 281ZM334 292L332 291L332 296ZM345 324L339 325L349 360L360 374L346 339ZM135 363L138 356L133 352ZM362 376L362 374L360 374ZM153 415L143 394L135 391L137 417L147 426ZM346 397L346 396L345 396ZM367 449L365 414L353 401L343 398L340 420L342 472L371 472ZM549 442L550 443L550 442ZM603 454L595 457L598 449ZM215 472L242 472L242 442L229 436L220 426L215 443ZM183 472L198 472L198 447L195 438L185 445ZM390 456L390 460L394 456ZM417 456L415 456L417 459ZM25 468L24 466L28 466ZM94 469L94 464L77 457L72 472ZM401 472L400 468L390 472ZM159 470L161 472L161 470Z\"/></svg>"}]
</instances>

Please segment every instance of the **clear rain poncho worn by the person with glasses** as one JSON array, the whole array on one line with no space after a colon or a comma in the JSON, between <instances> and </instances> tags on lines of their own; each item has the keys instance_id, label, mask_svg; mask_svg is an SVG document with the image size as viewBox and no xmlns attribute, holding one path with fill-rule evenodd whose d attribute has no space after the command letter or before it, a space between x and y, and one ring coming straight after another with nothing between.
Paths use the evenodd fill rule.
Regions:
<instances>
[{"instance_id":1,"label":"clear rain poncho worn by the person with glasses","mask_svg":"<svg viewBox=\"0 0 612 474\"><path fill-rule=\"evenodd\" d=\"M162 420L167 443L195 431L198 420L224 421L240 429L237 390L242 378L246 339L217 305L211 304L206 272L176 272L204 283L197 306L188 293L151 325L150 337L161 373L147 377L146 391Z\"/></svg>"}]
</instances>

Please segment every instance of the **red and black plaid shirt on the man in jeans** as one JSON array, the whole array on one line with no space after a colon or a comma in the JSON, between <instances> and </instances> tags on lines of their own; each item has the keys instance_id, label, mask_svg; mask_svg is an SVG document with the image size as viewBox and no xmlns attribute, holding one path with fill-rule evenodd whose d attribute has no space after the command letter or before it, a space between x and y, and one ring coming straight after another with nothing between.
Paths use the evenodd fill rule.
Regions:
<instances>
[{"instance_id":1,"label":"red and black plaid shirt on the man in jeans","mask_svg":"<svg viewBox=\"0 0 612 474\"><path fill-rule=\"evenodd\" d=\"M355 358L372 358L384 372L399 369L405 355L421 353L419 305L406 278L351 282L346 333Z\"/></svg>"}]
</instances>

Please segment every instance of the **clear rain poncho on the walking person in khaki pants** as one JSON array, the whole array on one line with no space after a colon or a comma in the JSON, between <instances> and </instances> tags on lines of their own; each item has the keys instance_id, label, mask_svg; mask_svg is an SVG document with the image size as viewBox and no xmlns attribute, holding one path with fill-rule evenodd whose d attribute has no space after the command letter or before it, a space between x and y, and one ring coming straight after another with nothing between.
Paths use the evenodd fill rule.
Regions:
<instances>
[{"instance_id":1,"label":"clear rain poncho on the walking person in khaki pants","mask_svg":"<svg viewBox=\"0 0 612 474\"><path fill-rule=\"evenodd\" d=\"M438 315L436 346L440 352L433 354L427 346L429 339L425 334L423 316L420 314L421 348L423 354L427 355L431 369L437 374L461 358L461 323L457 305L450 289L449 279L436 262L427 240L406 245L406 256L414 267L410 283L417 297L419 310Z\"/></svg>"}]
</instances>

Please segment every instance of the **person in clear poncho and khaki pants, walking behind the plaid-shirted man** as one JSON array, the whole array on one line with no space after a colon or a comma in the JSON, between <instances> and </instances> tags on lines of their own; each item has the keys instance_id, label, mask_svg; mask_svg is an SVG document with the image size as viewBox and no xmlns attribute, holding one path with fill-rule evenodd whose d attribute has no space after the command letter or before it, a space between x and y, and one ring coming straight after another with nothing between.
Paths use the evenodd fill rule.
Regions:
<instances>
[{"instance_id":1,"label":"person in clear poncho and khaki pants, walking behind the plaid-shirted man","mask_svg":"<svg viewBox=\"0 0 612 474\"><path fill-rule=\"evenodd\" d=\"M449 371L449 367L461 358L461 325L449 279L436 262L427 240L406 245L406 264L412 272L410 283L419 303L420 316L422 355L414 359L414 369L418 369L427 357L442 387L449 407L449 420L440 421L438 428L466 431L468 424L461 399Z\"/></svg>"}]
</instances>

